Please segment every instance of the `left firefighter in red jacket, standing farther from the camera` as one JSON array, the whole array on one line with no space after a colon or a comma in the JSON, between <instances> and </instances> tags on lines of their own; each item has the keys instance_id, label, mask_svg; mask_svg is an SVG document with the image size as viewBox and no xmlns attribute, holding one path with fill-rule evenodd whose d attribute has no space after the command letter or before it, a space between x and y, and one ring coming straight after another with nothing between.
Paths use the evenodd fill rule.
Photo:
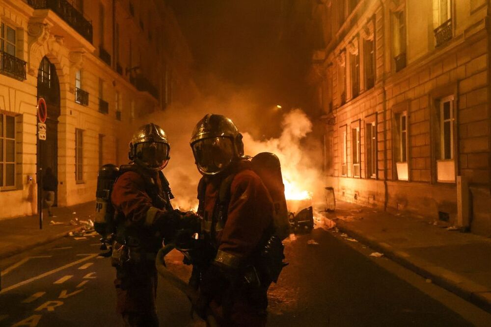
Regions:
<instances>
[{"instance_id":1,"label":"left firefighter in red jacket, standing farther from the camera","mask_svg":"<svg viewBox=\"0 0 491 327\"><path fill-rule=\"evenodd\" d=\"M112 264L117 311L126 326L158 326L155 298L156 253L163 239L171 241L176 231L195 219L173 210L173 198L162 169L169 161L169 143L164 130L141 126L130 143L131 163L123 165L111 201L116 209L116 242Z\"/></svg>"}]
</instances>

